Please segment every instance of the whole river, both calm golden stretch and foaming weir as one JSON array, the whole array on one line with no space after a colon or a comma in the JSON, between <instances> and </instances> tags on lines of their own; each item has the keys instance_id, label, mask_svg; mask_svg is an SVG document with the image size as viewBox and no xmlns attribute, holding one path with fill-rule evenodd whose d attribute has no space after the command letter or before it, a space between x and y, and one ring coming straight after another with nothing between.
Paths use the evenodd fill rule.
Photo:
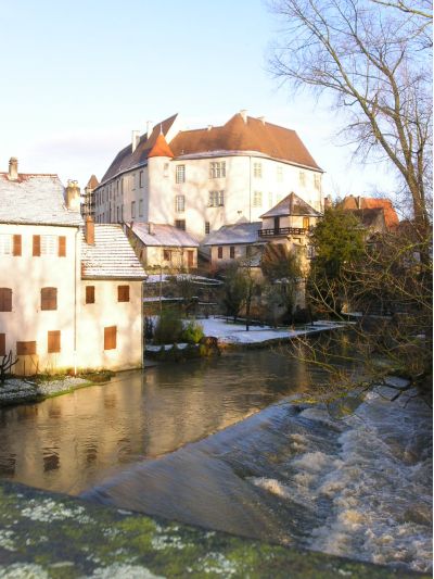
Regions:
<instances>
[{"instance_id":1,"label":"whole river, both calm golden stretch and foaming weir","mask_svg":"<svg viewBox=\"0 0 434 579\"><path fill-rule=\"evenodd\" d=\"M392 403L388 389L340 419L288 401L324 379L267 350L118 375L2 410L0 476L210 529L427 569L430 410L407 394Z\"/></svg>"}]
</instances>

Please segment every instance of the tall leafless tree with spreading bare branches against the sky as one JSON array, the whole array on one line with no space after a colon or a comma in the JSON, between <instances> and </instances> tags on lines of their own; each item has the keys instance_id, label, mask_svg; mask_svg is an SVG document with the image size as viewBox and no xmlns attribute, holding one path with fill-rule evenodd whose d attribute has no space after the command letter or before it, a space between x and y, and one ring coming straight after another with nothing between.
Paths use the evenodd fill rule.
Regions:
<instances>
[{"instance_id":1,"label":"tall leafless tree with spreading bare branches against the sky","mask_svg":"<svg viewBox=\"0 0 434 579\"><path fill-rule=\"evenodd\" d=\"M432 186L427 2L275 0L272 10L284 26L273 73L294 90L334 96L347 113L342 135L363 160L386 160L395 169L424 238Z\"/></svg>"}]
</instances>

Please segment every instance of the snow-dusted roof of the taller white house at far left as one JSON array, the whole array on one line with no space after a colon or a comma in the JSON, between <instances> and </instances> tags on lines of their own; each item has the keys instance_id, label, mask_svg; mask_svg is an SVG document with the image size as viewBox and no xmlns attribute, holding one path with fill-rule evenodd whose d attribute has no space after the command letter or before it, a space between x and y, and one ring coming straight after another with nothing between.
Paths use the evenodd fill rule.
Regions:
<instances>
[{"instance_id":1,"label":"snow-dusted roof of the taller white house at far left","mask_svg":"<svg viewBox=\"0 0 434 579\"><path fill-rule=\"evenodd\" d=\"M79 212L66 207L58 175L0 173L0 223L79 226Z\"/></svg>"}]
</instances>

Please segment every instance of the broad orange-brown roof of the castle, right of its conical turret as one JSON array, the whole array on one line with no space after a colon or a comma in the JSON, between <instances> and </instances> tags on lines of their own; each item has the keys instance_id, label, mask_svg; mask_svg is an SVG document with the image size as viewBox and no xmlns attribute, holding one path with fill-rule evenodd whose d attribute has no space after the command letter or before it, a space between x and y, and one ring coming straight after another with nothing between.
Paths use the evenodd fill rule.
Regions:
<instances>
[{"instance_id":1,"label":"broad orange-brown roof of the castle, right of its conical turret","mask_svg":"<svg viewBox=\"0 0 434 579\"><path fill-rule=\"evenodd\" d=\"M182 130L170 141L175 156L210 152L258 152L272 159L321 171L303 144L289 128L239 113L220 127Z\"/></svg>"}]
</instances>

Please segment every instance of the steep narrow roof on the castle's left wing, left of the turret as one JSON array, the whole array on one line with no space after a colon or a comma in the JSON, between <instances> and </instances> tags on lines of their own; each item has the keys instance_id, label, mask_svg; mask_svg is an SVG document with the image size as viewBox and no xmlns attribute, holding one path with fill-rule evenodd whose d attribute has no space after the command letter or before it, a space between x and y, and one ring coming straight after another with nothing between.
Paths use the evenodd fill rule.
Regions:
<instances>
[{"instance_id":1,"label":"steep narrow roof on the castle's left wing, left of the turret","mask_svg":"<svg viewBox=\"0 0 434 579\"><path fill-rule=\"evenodd\" d=\"M131 143L127 144L127 147L122 149L122 151L119 151L115 156L108 169L105 172L105 175L101 179L101 182L105 182L112 179L118 173L123 173L138 165L143 165L146 162L149 153L154 147L158 135L161 133L164 136L167 135L177 116L178 115L175 114L169 118L157 123L154 126L151 135L142 135L140 137L138 146L136 147L135 152L132 152Z\"/></svg>"}]
</instances>

